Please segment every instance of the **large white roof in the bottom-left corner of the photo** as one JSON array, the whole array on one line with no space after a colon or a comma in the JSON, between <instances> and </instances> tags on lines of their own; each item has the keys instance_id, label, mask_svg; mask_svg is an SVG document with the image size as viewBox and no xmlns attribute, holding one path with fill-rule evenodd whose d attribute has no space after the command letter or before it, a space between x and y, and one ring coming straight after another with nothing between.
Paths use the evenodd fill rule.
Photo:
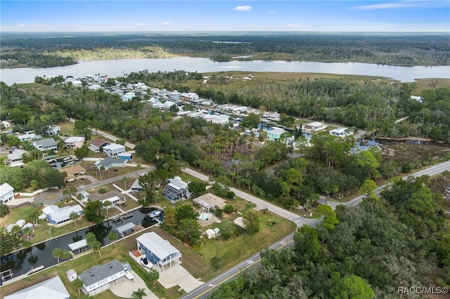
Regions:
<instances>
[{"instance_id":1,"label":"large white roof in the bottom-left corner of the photo","mask_svg":"<svg viewBox=\"0 0 450 299\"><path fill-rule=\"evenodd\" d=\"M63 281L56 276L51 279L34 284L28 288L4 296L4 299L70 299L70 294L65 288Z\"/></svg>"}]
</instances>

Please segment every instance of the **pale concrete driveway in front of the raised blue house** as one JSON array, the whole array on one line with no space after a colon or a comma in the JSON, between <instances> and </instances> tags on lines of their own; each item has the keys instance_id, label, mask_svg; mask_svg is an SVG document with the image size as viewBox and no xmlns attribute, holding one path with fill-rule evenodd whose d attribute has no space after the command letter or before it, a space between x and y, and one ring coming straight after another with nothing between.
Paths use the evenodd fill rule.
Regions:
<instances>
[{"instance_id":1,"label":"pale concrete driveway in front of the raised blue house","mask_svg":"<svg viewBox=\"0 0 450 299\"><path fill-rule=\"evenodd\" d=\"M172 286L179 286L184 289L186 293L189 293L195 288L198 288L203 281L195 279L184 267L181 265L174 265L163 272L160 272L160 278L158 282L165 288L172 288Z\"/></svg>"}]
</instances>

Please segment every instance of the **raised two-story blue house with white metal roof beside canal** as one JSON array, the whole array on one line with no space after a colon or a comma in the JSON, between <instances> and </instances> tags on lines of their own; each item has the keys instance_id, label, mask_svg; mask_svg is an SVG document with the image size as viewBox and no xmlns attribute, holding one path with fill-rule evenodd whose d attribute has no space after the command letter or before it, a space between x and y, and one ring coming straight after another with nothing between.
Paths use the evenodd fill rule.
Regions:
<instances>
[{"instance_id":1,"label":"raised two-story blue house with white metal roof beside canal","mask_svg":"<svg viewBox=\"0 0 450 299\"><path fill-rule=\"evenodd\" d=\"M138 251L160 271L172 267L172 264L181 264L181 252L155 232L142 234L136 238L136 243Z\"/></svg>"}]
</instances>

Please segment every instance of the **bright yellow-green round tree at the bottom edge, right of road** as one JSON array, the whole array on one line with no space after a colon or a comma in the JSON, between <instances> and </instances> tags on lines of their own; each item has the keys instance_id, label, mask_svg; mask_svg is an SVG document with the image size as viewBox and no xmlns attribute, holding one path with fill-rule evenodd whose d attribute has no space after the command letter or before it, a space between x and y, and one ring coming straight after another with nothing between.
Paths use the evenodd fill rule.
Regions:
<instances>
[{"instance_id":1,"label":"bright yellow-green round tree at the bottom edge, right of road","mask_svg":"<svg viewBox=\"0 0 450 299\"><path fill-rule=\"evenodd\" d=\"M335 299L372 299L373 290L361 277L349 275L340 279L330 290Z\"/></svg>"}]
</instances>

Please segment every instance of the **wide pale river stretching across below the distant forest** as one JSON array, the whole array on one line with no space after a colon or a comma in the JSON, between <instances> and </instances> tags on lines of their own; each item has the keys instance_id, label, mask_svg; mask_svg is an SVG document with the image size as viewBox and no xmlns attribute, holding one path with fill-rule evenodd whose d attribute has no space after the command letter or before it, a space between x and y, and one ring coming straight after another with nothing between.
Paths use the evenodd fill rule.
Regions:
<instances>
[{"instance_id":1,"label":"wide pale river stretching across below the distant forest","mask_svg":"<svg viewBox=\"0 0 450 299\"><path fill-rule=\"evenodd\" d=\"M139 58L117 60L83 60L77 65L47 68L0 69L0 81L12 84L32 83L39 77L84 77L86 74L101 74L116 78L147 69L149 72L311 72L326 74L354 74L374 77L388 77L402 82L415 79L450 79L450 65L437 67L397 67L359 62L285 62L285 61L231 61L214 62L208 58Z\"/></svg>"}]
</instances>

